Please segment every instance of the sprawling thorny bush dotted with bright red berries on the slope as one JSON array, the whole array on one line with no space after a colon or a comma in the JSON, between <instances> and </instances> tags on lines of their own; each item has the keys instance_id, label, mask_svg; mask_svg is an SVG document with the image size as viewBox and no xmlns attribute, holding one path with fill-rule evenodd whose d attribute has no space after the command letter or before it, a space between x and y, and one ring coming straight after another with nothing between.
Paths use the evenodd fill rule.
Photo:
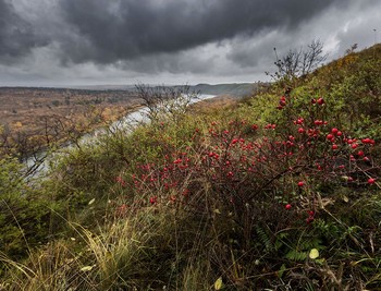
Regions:
<instances>
[{"instance_id":1,"label":"sprawling thorny bush dotted with bright red berries on the slope","mask_svg":"<svg viewBox=\"0 0 381 291\"><path fill-rule=\"evenodd\" d=\"M195 129L183 141L188 146L167 147L171 150L162 159L137 165L126 178L134 198L123 203L136 208L172 205L196 214L218 208L238 223L293 206L300 219L288 215L278 221L287 225L305 221L306 211L314 213L307 217L311 222L319 215L318 201L335 198L334 187L378 186L373 140L356 138L331 124L322 97L306 98L304 117L286 98L281 97L278 124L213 121L204 131Z\"/></svg>"}]
</instances>

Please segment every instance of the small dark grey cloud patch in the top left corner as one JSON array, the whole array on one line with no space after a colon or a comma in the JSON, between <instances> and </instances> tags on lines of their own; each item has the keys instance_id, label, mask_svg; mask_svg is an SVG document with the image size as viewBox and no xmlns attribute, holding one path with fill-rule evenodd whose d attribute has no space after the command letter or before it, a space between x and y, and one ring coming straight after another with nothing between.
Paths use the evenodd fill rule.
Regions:
<instances>
[{"instance_id":1,"label":"small dark grey cloud patch in the top left corner","mask_svg":"<svg viewBox=\"0 0 381 291\"><path fill-rule=\"evenodd\" d=\"M32 48L46 44L47 41L36 35L33 27L15 13L9 1L0 0L0 59L23 56Z\"/></svg>"}]
</instances>

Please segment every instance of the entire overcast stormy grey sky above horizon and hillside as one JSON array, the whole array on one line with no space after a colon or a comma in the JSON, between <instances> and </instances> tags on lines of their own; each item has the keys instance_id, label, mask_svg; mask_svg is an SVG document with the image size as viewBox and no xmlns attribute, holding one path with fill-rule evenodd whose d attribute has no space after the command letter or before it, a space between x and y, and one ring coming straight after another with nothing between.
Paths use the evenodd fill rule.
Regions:
<instances>
[{"instance_id":1,"label":"entire overcast stormy grey sky above horizon and hillside","mask_svg":"<svg viewBox=\"0 0 381 291\"><path fill-rule=\"evenodd\" d=\"M331 60L380 24L380 0L0 0L0 86L266 81L274 47Z\"/></svg>"}]
</instances>

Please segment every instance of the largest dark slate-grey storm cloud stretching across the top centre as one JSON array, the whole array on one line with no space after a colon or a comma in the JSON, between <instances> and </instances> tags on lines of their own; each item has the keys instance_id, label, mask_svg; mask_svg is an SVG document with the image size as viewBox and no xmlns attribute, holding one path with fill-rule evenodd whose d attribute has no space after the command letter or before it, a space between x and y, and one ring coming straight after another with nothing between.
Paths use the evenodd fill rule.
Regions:
<instances>
[{"instance_id":1,"label":"largest dark slate-grey storm cloud stretching across the top centre","mask_svg":"<svg viewBox=\"0 0 381 291\"><path fill-rule=\"evenodd\" d=\"M61 40L66 60L110 63L175 52L263 28L293 29L347 0L60 0L75 37Z\"/></svg>"}]
</instances>

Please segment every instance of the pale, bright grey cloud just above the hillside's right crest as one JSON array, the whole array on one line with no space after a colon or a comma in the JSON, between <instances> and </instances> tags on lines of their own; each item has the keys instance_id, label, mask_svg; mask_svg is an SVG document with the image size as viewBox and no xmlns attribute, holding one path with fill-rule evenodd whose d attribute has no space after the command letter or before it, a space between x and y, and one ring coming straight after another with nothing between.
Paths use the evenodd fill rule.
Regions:
<instances>
[{"instance_id":1,"label":"pale, bright grey cloud just above the hillside's right crest","mask_svg":"<svg viewBox=\"0 0 381 291\"><path fill-rule=\"evenodd\" d=\"M328 49L329 60L332 60L343 56L345 49L355 43L359 44L359 49L373 45L372 28L380 25L381 2L347 1L347 4L348 7L332 7L303 23L297 29L279 27L262 31L253 38L238 37L226 58L242 69L256 68L265 72L274 70L274 47L278 54L283 56L290 49L303 49L314 39L319 39Z\"/></svg>"}]
</instances>

